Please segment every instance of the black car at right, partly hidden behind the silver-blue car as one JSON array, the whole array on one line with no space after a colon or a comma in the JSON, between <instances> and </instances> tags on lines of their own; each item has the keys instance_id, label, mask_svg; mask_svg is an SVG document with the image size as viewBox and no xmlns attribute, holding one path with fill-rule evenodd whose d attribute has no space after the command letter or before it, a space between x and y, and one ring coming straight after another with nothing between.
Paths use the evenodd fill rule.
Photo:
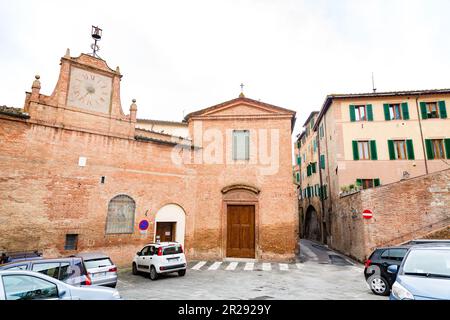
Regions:
<instances>
[{"instance_id":1,"label":"black car at right, partly hidden behind the silver-blue car","mask_svg":"<svg viewBox=\"0 0 450 320\"><path fill-rule=\"evenodd\" d=\"M395 274L388 272L391 265L400 266L410 245L376 249L365 263L364 276L373 293L388 296L395 282Z\"/></svg>"}]
</instances>

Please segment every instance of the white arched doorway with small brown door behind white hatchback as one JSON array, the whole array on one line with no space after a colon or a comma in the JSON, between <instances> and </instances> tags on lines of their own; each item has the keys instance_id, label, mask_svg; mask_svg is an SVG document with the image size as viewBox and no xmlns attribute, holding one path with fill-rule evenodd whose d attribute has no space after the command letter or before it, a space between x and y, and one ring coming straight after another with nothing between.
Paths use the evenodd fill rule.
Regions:
<instances>
[{"instance_id":1,"label":"white arched doorway with small brown door behind white hatchback","mask_svg":"<svg viewBox=\"0 0 450 320\"><path fill-rule=\"evenodd\" d=\"M159 209L155 218L155 241L176 241L184 246L186 214L179 205L168 204Z\"/></svg>"}]
</instances>

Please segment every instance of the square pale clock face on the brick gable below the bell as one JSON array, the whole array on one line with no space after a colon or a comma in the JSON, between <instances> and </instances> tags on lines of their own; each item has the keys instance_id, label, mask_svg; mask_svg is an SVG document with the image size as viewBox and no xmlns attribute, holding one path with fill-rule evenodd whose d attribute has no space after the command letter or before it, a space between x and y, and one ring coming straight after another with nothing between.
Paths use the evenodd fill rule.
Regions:
<instances>
[{"instance_id":1,"label":"square pale clock face on the brick gable below the bell","mask_svg":"<svg viewBox=\"0 0 450 320\"><path fill-rule=\"evenodd\" d=\"M67 105L109 113L112 78L72 67Z\"/></svg>"}]
</instances>

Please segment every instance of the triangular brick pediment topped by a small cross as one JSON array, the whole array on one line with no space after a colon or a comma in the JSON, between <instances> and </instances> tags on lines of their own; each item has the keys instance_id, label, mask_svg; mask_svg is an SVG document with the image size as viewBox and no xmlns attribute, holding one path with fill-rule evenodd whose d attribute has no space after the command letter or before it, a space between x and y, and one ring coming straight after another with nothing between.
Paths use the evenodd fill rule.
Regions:
<instances>
[{"instance_id":1,"label":"triangular brick pediment topped by a small cross","mask_svg":"<svg viewBox=\"0 0 450 320\"><path fill-rule=\"evenodd\" d=\"M245 117L245 116L294 116L295 111L280 108L261 101L243 98L230 100L206 109L192 112L186 120L192 117Z\"/></svg>"}]
</instances>

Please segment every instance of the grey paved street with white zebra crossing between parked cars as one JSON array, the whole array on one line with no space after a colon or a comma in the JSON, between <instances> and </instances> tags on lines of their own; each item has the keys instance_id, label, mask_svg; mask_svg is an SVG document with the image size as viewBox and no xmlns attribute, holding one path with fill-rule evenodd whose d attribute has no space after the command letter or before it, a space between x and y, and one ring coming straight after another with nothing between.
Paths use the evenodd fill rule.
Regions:
<instances>
[{"instance_id":1,"label":"grey paved street with white zebra crossing between parked cars","mask_svg":"<svg viewBox=\"0 0 450 320\"><path fill-rule=\"evenodd\" d=\"M362 265L307 240L301 248L296 263L191 261L185 277L157 281L122 270L117 289L125 299L386 299L367 288Z\"/></svg>"}]
</instances>

